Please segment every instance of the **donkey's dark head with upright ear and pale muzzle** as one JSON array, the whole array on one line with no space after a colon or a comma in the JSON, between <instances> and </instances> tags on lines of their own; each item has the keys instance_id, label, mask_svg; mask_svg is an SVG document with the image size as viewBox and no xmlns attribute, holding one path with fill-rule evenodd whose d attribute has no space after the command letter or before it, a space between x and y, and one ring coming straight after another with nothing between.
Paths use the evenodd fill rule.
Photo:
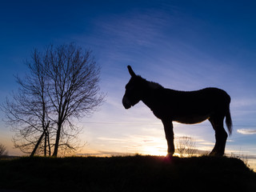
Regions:
<instances>
[{"instance_id":1,"label":"donkey's dark head with upright ear and pale muzzle","mask_svg":"<svg viewBox=\"0 0 256 192\"><path fill-rule=\"evenodd\" d=\"M136 105L142 99L142 88L145 79L136 75L131 66L127 66L130 73L130 81L126 84L126 93L122 98L122 105L127 109Z\"/></svg>"}]
</instances>

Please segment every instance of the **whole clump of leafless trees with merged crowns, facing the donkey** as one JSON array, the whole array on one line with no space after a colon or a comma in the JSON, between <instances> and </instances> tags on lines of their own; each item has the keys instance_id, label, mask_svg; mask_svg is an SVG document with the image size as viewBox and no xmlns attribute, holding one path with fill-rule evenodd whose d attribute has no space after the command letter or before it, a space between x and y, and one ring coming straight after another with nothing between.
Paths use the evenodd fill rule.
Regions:
<instances>
[{"instance_id":1,"label":"whole clump of leafless trees with merged crowns, facing the donkey","mask_svg":"<svg viewBox=\"0 0 256 192\"><path fill-rule=\"evenodd\" d=\"M31 155L50 154L51 147L54 156L59 147L75 150L81 129L74 125L74 118L92 114L104 98L92 52L74 43L47 46L44 52L34 50L27 64L30 74L25 80L17 78L18 94L3 107L7 122L18 130L15 146L32 151Z\"/></svg>"}]
</instances>

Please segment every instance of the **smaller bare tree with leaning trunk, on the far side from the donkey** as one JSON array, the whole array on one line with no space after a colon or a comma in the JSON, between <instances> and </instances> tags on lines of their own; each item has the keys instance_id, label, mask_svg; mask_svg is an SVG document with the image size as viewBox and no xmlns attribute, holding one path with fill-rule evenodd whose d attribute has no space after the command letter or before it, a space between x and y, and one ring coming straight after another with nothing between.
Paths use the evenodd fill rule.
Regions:
<instances>
[{"instance_id":1,"label":"smaller bare tree with leaning trunk, on the far side from the donkey","mask_svg":"<svg viewBox=\"0 0 256 192\"><path fill-rule=\"evenodd\" d=\"M14 146L23 153L31 153L33 156L42 138L49 136L48 111L49 105L47 101L47 81L46 73L42 63L42 58L38 54L38 50L34 50L31 54L31 61L26 61L29 74L24 78L15 76L18 82L18 93L13 93L13 100L6 99L6 103L2 106L6 112L6 123L16 132L13 141ZM45 143L49 147L50 141ZM37 151L40 154L41 151ZM46 155L46 154L45 154Z\"/></svg>"}]
</instances>

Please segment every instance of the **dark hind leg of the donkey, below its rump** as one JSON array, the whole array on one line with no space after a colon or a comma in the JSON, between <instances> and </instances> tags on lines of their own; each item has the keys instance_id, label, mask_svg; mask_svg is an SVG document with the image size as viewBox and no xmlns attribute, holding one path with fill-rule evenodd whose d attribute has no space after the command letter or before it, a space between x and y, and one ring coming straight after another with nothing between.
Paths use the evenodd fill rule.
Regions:
<instances>
[{"instance_id":1,"label":"dark hind leg of the donkey, below its rump","mask_svg":"<svg viewBox=\"0 0 256 192\"><path fill-rule=\"evenodd\" d=\"M223 120L224 116L209 118L211 125L214 127L216 139L214 149L210 152L210 155L222 156L225 152L227 134L223 126Z\"/></svg>"}]
</instances>

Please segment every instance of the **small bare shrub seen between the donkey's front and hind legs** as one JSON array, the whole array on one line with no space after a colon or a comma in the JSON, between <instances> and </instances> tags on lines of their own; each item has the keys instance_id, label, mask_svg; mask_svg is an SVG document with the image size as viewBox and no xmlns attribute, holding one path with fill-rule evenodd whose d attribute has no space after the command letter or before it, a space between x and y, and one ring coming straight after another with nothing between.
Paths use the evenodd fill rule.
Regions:
<instances>
[{"instance_id":1,"label":"small bare shrub seen between the donkey's front and hind legs","mask_svg":"<svg viewBox=\"0 0 256 192\"><path fill-rule=\"evenodd\" d=\"M180 157L191 157L195 153L195 141L192 137L183 136L177 139L176 150Z\"/></svg>"}]
</instances>

